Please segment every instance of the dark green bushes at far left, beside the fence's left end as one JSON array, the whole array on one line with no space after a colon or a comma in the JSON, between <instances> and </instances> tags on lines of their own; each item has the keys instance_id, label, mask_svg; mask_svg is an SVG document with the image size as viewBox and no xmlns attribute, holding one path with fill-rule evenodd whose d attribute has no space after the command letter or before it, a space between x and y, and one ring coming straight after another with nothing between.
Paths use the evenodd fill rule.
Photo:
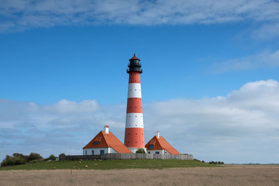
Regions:
<instances>
[{"instance_id":1,"label":"dark green bushes at far left, beside the fence's left end","mask_svg":"<svg viewBox=\"0 0 279 186\"><path fill-rule=\"evenodd\" d=\"M63 155L63 154L61 154ZM13 166L20 164L31 164L44 161L54 161L56 159L55 155L50 155L50 157L43 158L38 153L30 153L30 155L23 155L21 153L13 153L13 156L6 155L6 158L1 162L1 166Z\"/></svg>"}]
</instances>

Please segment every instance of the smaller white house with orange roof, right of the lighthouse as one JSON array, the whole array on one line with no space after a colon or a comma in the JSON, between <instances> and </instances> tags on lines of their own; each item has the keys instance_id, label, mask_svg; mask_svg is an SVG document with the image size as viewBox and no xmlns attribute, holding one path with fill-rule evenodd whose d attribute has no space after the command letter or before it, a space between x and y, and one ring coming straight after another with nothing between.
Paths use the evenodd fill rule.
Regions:
<instances>
[{"instance_id":1,"label":"smaller white house with orange roof, right of the lighthouse","mask_svg":"<svg viewBox=\"0 0 279 186\"><path fill-rule=\"evenodd\" d=\"M180 155L163 137L160 137L159 131L145 146L147 154L169 154Z\"/></svg>"}]
</instances>

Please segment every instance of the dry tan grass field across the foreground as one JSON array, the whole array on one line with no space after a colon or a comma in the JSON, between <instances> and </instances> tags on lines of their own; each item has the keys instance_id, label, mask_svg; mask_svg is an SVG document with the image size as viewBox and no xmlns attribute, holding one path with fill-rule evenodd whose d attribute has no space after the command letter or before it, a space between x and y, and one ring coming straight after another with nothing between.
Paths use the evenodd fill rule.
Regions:
<instances>
[{"instance_id":1,"label":"dry tan grass field across the foreground","mask_svg":"<svg viewBox=\"0 0 279 186\"><path fill-rule=\"evenodd\" d=\"M0 185L279 185L279 166L1 171Z\"/></svg>"}]
</instances>

